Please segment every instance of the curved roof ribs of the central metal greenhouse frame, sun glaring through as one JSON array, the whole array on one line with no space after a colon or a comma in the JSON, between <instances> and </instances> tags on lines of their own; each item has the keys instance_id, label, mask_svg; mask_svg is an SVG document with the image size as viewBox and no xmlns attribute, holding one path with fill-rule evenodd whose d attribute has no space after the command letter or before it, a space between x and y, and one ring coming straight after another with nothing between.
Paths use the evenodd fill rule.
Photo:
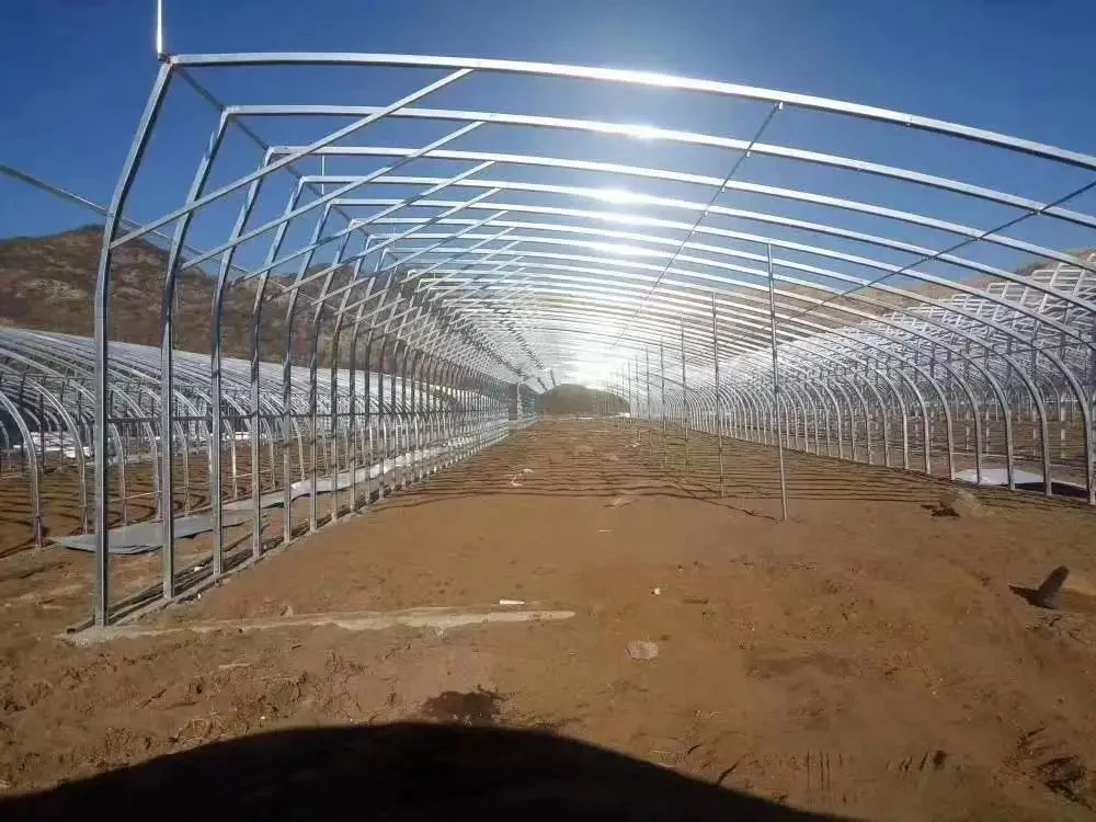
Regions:
<instances>
[{"instance_id":1,"label":"curved roof ribs of the central metal greenhouse frame, sun glaring through","mask_svg":"<svg viewBox=\"0 0 1096 822\"><path fill-rule=\"evenodd\" d=\"M301 94L293 80L323 71L361 79L373 100L353 90L352 102L330 102ZM249 72L270 72L266 88L284 102L227 99L221 89L239 87L226 78ZM1061 418L1069 406L1081 418L1093 486L1096 254L1087 249L1096 235L1074 246L1084 251L1061 246L1062 226L1070 237L1096 231L1084 207L1096 187L1092 155L857 103L642 71L410 55L190 55L164 60L115 212L148 173L146 150L175 78L213 106L190 191L155 219L135 226L127 214L124 228L109 226L104 252L106 261L173 227L165 295L179 271L215 265L222 289L253 281L256 322L287 304L287 319L395 332L397 347L441 346L501 381L543 385L548 370L560 381L604 381L635 373L659 346L692 370L697 396L712 398L737 385L772 391L775 339L777 373L783 362L792 380L863 374L868 393L889 386L900 402L909 397L897 386L933 383L938 404L961 398L974 415L975 404L996 402L1011 421L1020 403L1043 434L1048 408ZM571 94L573 105L563 99ZM635 105L621 102L628 95ZM591 116L591 100L628 116ZM670 122L648 125L658 119L652 100L685 102L665 106ZM812 119L795 119L804 113ZM820 132L836 124L843 139L814 140L803 123ZM258 149L250 164L226 165L236 129ZM924 146L926 161L886 150L889 140ZM1016 158L1008 162L1026 171L956 173L969 157L989 157L993 169ZM1052 169L1059 187L1034 185L1036 167ZM289 185L273 194L278 176ZM235 220L220 218L221 236L203 238L196 244L207 251L184 259L194 218L226 203L238 204L224 212L238 207ZM243 249L254 247L263 251L244 261ZM105 305L105 262L102 274ZM288 350L285 357L288 368ZM170 384L169 375L163 390ZM1049 468L1046 454L1043 461Z\"/></svg>"}]
</instances>

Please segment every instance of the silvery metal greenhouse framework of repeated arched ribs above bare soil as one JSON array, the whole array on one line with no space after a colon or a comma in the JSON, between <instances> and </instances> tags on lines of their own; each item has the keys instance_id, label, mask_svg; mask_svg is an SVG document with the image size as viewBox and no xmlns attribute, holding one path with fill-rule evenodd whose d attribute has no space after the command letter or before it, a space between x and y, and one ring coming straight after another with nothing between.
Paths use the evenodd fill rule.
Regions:
<instances>
[{"instance_id":1,"label":"silvery metal greenhouse framework of repeated arched ribs above bare soil","mask_svg":"<svg viewBox=\"0 0 1096 822\"><path fill-rule=\"evenodd\" d=\"M270 93L228 99L242 95L240 76L267 78ZM336 92L351 102L316 102ZM663 107L671 119L715 112L699 119L726 118L729 133L573 116L560 103L569 94L648 121ZM208 128L180 129L169 110L195 96ZM468 103L493 99L492 110ZM171 129L172 163L192 149L190 186L137 220L132 193L165 179L155 149ZM815 133L852 135L849 152L815 150ZM925 146L924 157L867 156L890 140ZM1027 172L994 173L991 187L941 173L931 161L941 150ZM1061 190L1034 193L1044 180ZM210 443L246 435L248 470L270 471L288 512L294 447L313 479L318 461L332 476L353 471L373 459L338 445L340 432L355 441L358 415L391 457L426 447L431 414L475 408L461 430L486 431L520 415L521 386L549 378L607 388L632 416L686 436L972 471L979 482L995 469L1009 488L1034 476L1048 495L1076 489L1092 504L1096 216L1082 203L1094 187L1087 153L726 82L436 56L165 56L107 209L94 341L4 332L0 344L21 356L38 345L42 357L34 368L3 361L30 376L20 388L3 378L0 396L37 403L39 416L65 408L77 452L94 457L100 623L111 613L109 505L125 495L110 484L127 464L119 455L158 466L162 512L179 493L176 460L204 443L216 575L221 511L239 489L222 486L224 448ZM162 345L111 342L113 255L158 235L170 237L157 284ZM1062 238L1086 250L1062 250ZM189 270L216 283L207 355L172 345ZM232 289L254 294L250 362L220 354ZM281 364L260 362L274 312L285 320ZM295 323L311 329L308 363L294 359ZM324 363L321 331L334 341ZM363 386L368 368L387 377ZM71 385L64 397L61 385ZM389 416L402 444L376 429ZM438 424L429 442L452 442ZM30 444L38 429L25 427ZM318 460L324 452L342 456ZM235 478L235 445L230 458ZM263 488L250 483L255 557ZM310 527L316 510L313 493ZM167 598L174 520L161 516Z\"/></svg>"}]
</instances>

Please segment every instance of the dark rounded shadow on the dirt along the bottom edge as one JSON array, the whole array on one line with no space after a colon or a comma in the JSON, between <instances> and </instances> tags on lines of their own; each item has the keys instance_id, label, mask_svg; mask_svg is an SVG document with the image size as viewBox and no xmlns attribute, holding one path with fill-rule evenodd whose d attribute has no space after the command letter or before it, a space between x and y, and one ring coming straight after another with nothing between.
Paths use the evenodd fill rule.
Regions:
<instances>
[{"instance_id":1,"label":"dark rounded shadow on the dirt along the bottom edge","mask_svg":"<svg viewBox=\"0 0 1096 822\"><path fill-rule=\"evenodd\" d=\"M42 794L0 819L821 820L548 733L443 724L217 742Z\"/></svg>"}]
</instances>

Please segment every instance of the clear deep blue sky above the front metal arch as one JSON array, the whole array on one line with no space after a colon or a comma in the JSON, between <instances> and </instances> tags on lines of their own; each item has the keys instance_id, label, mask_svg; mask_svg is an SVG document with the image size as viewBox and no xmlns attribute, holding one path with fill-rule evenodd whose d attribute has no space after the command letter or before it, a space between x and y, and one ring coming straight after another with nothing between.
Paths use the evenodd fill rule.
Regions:
<instances>
[{"instance_id":1,"label":"clear deep blue sky above the front metal arch","mask_svg":"<svg viewBox=\"0 0 1096 822\"><path fill-rule=\"evenodd\" d=\"M156 71L151 9L151 0L26 0L0 12L0 162L109 201ZM1087 0L168 0L168 46L175 53L392 52L641 68L899 109L1089 153L1096 153L1093 31L1096 3ZM294 93L308 102L377 103L400 91L388 90L380 76L335 73L322 91L307 77L294 82ZM258 77L224 83L209 78L210 88L233 100L263 99L270 88L264 83ZM625 103L589 89L572 96L545 87L544 94L553 113L660 125L669 119L675 127L745 138L763 114L662 98ZM498 100L500 107L522 107L516 90L487 83L455 90L436 104L492 107ZM201 149L201 129L187 130L186 105L176 115L178 137L169 134L158 146L161 157ZM874 126L850 132L808 115L781 114L765 138L884 162L904 158L905 165L1046 198L1086 180L1075 170L994 152L975 156ZM637 153L623 161L642 159ZM769 171L764 162L750 162L750 180L788 184L790 175L801 187L843 184L809 170ZM176 164L174 182L185 185L192 160ZM168 176L171 167L165 161ZM717 164L705 168L718 173ZM871 185L850 187L870 199ZM931 205L933 195L903 196ZM133 216L150 218L170 205L146 192L135 196ZM1073 205L1096 212L1096 196ZM982 227L1007 217L977 204L955 207L941 205L949 217ZM0 178L0 236L87 221L89 216ZM1015 233L1062 247L1089 244L1074 229L1037 220ZM214 241L209 235L205 244Z\"/></svg>"}]
</instances>

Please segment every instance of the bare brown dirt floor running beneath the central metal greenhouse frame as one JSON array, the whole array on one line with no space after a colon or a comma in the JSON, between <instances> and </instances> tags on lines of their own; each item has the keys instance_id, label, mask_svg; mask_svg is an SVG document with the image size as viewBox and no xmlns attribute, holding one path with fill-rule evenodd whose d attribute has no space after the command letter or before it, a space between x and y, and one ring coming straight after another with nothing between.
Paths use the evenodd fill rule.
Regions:
<instances>
[{"instance_id":1,"label":"bare brown dirt floor running beneath the central metal greenhouse frame","mask_svg":"<svg viewBox=\"0 0 1096 822\"><path fill-rule=\"evenodd\" d=\"M1096 578L1092 511L985 492L985 516L935 516L940 481L788 454L781 523L772 449L726 442L720 499L715 442L689 435L687 477L683 446L540 422L144 620L509 598L564 621L76 647L57 635L88 613L91 558L3 560L0 789L261 731L447 719L842 818L1096 817L1096 616L1011 587L1058 564ZM134 562L155 579L155 557ZM658 655L632 659L637 640Z\"/></svg>"}]
</instances>

